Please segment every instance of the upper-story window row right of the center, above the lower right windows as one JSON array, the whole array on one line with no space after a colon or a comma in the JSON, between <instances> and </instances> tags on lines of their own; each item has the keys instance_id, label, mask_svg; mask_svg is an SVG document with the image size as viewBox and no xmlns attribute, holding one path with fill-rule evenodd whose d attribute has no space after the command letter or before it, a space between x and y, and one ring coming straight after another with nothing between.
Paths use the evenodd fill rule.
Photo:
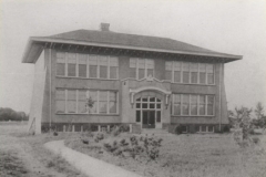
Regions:
<instances>
[{"instance_id":1,"label":"upper-story window row right of the center, above the lower right windows","mask_svg":"<svg viewBox=\"0 0 266 177\"><path fill-rule=\"evenodd\" d=\"M165 80L184 84L214 84L214 64L165 62Z\"/></svg>"}]
</instances>

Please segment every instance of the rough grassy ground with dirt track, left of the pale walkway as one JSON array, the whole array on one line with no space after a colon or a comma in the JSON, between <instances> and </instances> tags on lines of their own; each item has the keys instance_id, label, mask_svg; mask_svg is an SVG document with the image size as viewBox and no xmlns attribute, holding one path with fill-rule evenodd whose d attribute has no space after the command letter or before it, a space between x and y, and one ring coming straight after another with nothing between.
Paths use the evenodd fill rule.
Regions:
<instances>
[{"instance_id":1,"label":"rough grassy ground with dirt track, left of the pale walkway","mask_svg":"<svg viewBox=\"0 0 266 177\"><path fill-rule=\"evenodd\" d=\"M1 177L85 177L60 156L50 153L43 144L50 140L76 137L78 134L28 135L27 124L0 124Z\"/></svg>"}]
</instances>

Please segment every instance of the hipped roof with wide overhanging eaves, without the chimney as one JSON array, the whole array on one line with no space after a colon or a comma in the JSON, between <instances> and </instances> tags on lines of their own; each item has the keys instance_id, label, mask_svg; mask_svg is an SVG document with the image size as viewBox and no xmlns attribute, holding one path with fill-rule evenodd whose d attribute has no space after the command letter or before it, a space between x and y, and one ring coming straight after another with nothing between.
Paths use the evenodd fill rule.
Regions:
<instances>
[{"instance_id":1,"label":"hipped roof with wide overhanging eaves, without the chimney","mask_svg":"<svg viewBox=\"0 0 266 177\"><path fill-rule=\"evenodd\" d=\"M125 34L111 31L76 30L49 37L32 37L29 40L22 62L32 63L39 58L42 48L37 42L95 45L119 49L132 49L152 52L190 54L201 56L225 58L228 61L242 59L241 55L215 52L168 38Z\"/></svg>"}]
</instances>

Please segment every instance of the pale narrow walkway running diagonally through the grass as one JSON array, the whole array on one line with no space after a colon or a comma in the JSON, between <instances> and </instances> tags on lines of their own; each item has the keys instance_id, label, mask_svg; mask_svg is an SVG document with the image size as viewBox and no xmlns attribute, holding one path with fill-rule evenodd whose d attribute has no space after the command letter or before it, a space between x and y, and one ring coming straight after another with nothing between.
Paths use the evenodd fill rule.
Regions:
<instances>
[{"instance_id":1,"label":"pale narrow walkway running diagonally through the grass","mask_svg":"<svg viewBox=\"0 0 266 177\"><path fill-rule=\"evenodd\" d=\"M137 174L127 171L121 167L99 160L82 153L64 146L63 140L49 142L44 147L61 155L76 169L90 177L141 177Z\"/></svg>"}]
</instances>

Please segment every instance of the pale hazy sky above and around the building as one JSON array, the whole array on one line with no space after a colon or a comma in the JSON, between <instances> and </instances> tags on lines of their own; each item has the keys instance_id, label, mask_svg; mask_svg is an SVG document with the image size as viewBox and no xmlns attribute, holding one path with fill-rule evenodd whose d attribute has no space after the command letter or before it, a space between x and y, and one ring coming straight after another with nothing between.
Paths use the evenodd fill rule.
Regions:
<instances>
[{"instance_id":1,"label":"pale hazy sky above and around the building","mask_svg":"<svg viewBox=\"0 0 266 177\"><path fill-rule=\"evenodd\" d=\"M228 108L266 108L266 0L0 0L0 107L30 111L34 64L21 63L29 37L99 30L101 22L243 55L225 64Z\"/></svg>"}]
</instances>

